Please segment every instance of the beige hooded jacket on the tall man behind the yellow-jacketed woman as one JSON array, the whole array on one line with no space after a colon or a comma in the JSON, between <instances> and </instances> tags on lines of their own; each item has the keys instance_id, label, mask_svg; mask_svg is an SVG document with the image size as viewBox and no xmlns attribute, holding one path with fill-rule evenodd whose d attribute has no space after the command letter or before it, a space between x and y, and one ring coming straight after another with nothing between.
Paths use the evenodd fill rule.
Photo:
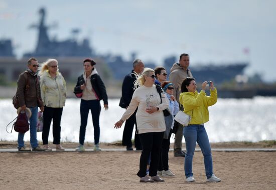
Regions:
<instances>
[{"instance_id":1,"label":"beige hooded jacket on the tall man behind the yellow-jacketed woman","mask_svg":"<svg viewBox=\"0 0 276 190\"><path fill-rule=\"evenodd\" d=\"M181 93L181 84L187 77L193 77L190 69L187 69L187 71L185 71L184 68L179 65L179 63L174 63L171 68L169 81L174 84L173 95L176 97L178 103L179 94Z\"/></svg>"}]
</instances>

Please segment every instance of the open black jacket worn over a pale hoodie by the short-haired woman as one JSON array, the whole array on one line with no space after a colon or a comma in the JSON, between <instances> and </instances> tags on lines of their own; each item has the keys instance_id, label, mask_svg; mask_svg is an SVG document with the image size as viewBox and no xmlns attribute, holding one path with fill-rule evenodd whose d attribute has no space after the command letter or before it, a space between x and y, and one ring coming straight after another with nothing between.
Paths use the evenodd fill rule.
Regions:
<instances>
[{"instance_id":1,"label":"open black jacket worn over a pale hoodie by the short-haired woman","mask_svg":"<svg viewBox=\"0 0 276 190\"><path fill-rule=\"evenodd\" d=\"M105 90L105 86L100 78L100 76L98 74L94 74L91 76L91 85L93 90L95 91L95 93L97 94L99 100L103 100L103 104L108 104L107 101L107 93ZM77 84L74 88L74 92L82 92L82 90L80 89L80 85L84 84L84 78L83 75L78 77L78 81Z\"/></svg>"}]
</instances>

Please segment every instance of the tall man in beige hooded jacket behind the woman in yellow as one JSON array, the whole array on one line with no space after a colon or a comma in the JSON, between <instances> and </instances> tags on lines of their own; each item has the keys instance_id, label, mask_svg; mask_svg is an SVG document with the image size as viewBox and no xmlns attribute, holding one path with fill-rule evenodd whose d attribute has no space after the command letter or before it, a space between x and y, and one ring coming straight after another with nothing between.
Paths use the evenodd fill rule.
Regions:
<instances>
[{"instance_id":1,"label":"tall man in beige hooded jacket behind the woman in yellow","mask_svg":"<svg viewBox=\"0 0 276 190\"><path fill-rule=\"evenodd\" d=\"M176 97L177 102L180 105L180 109L183 111L183 106L179 102L179 95L181 93L181 84L187 77L193 77L191 71L188 69L190 65L190 57L188 54L181 54L179 58L179 63L175 63L171 68L171 73L169 76L169 81L174 84L173 95ZM182 131L183 125L175 122L177 125L177 132L175 134L174 143L174 156L185 156L185 152L182 150Z\"/></svg>"}]
</instances>

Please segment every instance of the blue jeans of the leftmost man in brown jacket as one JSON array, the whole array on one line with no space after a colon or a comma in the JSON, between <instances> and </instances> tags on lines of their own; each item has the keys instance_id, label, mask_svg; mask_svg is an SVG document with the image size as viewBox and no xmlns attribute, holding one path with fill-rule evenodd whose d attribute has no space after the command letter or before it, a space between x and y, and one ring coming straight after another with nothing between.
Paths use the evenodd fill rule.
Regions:
<instances>
[{"instance_id":1,"label":"blue jeans of the leftmost man in brown jacket","mask_svg":"<svg viewBox=\"0 0 276 190\"><path fill-rule=\"evenodd\" d=\"M30 143L32 148L36 148L38 146L37 141L37 120L38 120L38 107L30 108L32 111L32 116L30 117ZM24 145L24 135L25 133L18 133L18 149L25 146Z\"/></svg>"}]
</instances>

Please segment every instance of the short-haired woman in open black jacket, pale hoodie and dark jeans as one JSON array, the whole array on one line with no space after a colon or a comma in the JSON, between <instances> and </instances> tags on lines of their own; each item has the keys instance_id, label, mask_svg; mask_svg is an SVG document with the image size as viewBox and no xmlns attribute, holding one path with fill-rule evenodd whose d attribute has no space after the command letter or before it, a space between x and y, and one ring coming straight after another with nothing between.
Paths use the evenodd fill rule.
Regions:
<instances>
[{"instance_id":1,"label":"short-haired woman in open black jacket, pale hoodie and dark jeans","mask_svg":"<svg viewBox=\"0 0 276 190\"><path fill-rule=\"evenodd\" d=\"M78 81L74 89L74 93L76 95L78 94L78 97L81 97L80 145L76 148L76 151L85 151L83 144L89 110L91 110L94 126L94 151L101 150L99 147L99 117L101 111L100 100L103 100L105 110L108 109L108 102L105 86L96 71L95 65L96 62L92 59L85 59L83 61L84 73L78 77Z\"/></svg>"}]
</instances>

